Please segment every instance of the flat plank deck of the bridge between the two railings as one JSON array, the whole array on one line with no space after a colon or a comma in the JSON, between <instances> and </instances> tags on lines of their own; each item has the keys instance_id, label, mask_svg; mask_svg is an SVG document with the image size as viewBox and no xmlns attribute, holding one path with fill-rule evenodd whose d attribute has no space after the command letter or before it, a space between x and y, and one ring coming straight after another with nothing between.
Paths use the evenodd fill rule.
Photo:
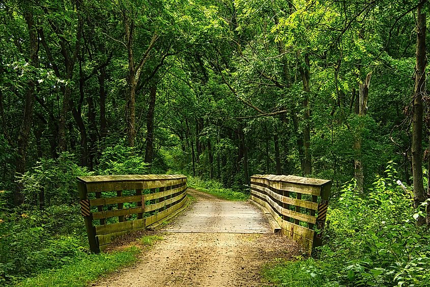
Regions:
<instances>
[{"instance_id":1,"label":"flat plank deck of the bridge between the two railings","mask_svg":"<svg viewBox=\"0 0 430 287\"><path fill-rule=\"evenodd\" d=\"M263 213L248 202L218 199L189 189L199 200L190 210L178 216L166 232L204 233L271 233Z\"/></svg>"}]
</instances>

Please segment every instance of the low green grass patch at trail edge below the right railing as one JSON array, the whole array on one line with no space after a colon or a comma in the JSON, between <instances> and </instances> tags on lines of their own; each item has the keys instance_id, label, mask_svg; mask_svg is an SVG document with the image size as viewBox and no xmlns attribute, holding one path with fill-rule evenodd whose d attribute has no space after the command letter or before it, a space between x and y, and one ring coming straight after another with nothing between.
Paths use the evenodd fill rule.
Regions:
<instances>
[{"instance_id":1,"label":"low green grass patch at trail edge below the right railing","mask_svg":"<svg viewBox=\"0 0 430 287\"><path fill-rule=\"evenodd\" d=\"M264 271L264 278L285 287L320 287L325 281L317 273L317 262L312 258L299 261L286 261L276 259L274 263L268 264Z\"/></svg>"}]
</instances>

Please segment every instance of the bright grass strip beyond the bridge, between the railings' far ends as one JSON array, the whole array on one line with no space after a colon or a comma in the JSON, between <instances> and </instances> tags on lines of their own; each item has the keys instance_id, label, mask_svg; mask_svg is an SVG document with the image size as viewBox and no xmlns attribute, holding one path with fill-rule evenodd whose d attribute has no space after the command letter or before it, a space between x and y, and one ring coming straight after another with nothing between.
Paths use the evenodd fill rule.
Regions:
<instances>
[{"instance_id":1,"label":"bright grass strip beyond the bridge, between the railings' far ends","mask_svg":"<svg viewBox=\"0 0 430 287\"><path fill-rule=\"evenodd\" d=\"M204 180L198 177L187 176L187 185L196 190L203 191L226 200L245 201L249 198L249 195L243 192L223 188L222 184L216 180Z\"/></svg>"}]
</instances>

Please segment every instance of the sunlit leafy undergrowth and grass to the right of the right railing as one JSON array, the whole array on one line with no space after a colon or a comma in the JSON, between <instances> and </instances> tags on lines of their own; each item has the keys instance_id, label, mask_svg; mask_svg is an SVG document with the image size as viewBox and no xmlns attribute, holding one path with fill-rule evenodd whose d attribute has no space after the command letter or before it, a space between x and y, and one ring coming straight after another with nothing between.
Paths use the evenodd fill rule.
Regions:
<instances>
[{"instance_id":1,"label":"sunlit leafy undergrowth and grass to the right of the right railing","mask_svg":"<svg viewBox=\"0 0 430 287\"><path fill-rule=\"evenodd\" d=\"M416 226L420 211L391 163L386 172L365 195L350 182L331 200L318 260L278 261L265 277L280 286L430 286L430 234Z\"/></svg>"}]
</instances>

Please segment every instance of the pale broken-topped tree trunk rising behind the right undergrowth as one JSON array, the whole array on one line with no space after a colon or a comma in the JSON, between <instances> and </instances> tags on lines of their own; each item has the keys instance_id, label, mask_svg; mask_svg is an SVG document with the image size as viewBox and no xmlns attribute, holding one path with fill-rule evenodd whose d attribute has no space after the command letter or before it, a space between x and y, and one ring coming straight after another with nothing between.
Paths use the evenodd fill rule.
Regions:
<instances>
[{"instance_id":1,"label":"pale broken-topped tree trunk rising behind the right undergrowth","mask_svg":"<svg viewBox=\"0 0 430 287\"><path fill-rule=\"evenodd\" d=\"M363 132L364 132L364 121L363 118L367 112L367 98L369 95L369 85L371 79L371 72L367 74L366 80L363 84L359 85L358 92L358 116L360 117L360 123L358 126L357 136L355 138L354 150L355 150L355 159L354 159L354 178L357 182L356 191L360 194L364 192L364 170L363 163L361 162L361 142L363 140Z\"/></svg>"}]
</instances>

